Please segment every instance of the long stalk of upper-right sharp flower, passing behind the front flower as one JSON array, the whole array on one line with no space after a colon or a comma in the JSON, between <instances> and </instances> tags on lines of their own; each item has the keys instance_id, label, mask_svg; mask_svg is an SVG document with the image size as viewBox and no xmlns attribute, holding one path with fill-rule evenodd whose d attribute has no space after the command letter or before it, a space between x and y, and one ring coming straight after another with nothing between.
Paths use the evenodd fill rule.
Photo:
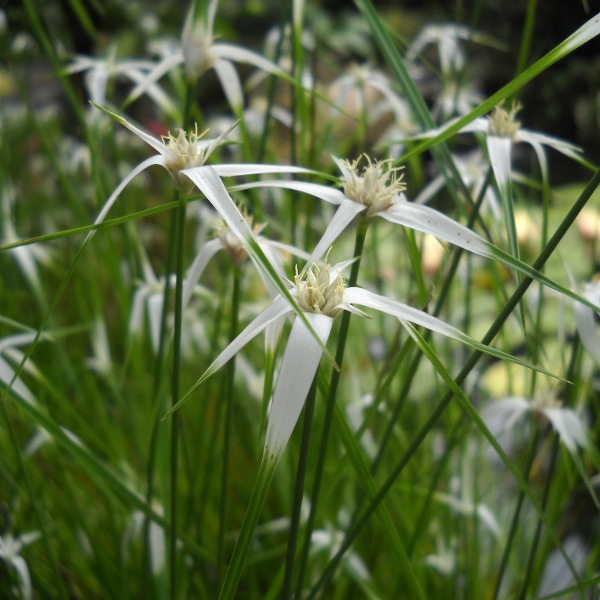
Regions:
<instances>
[{"instance_id":1,"label":"long stalk of upper-right sharp flower, passing behind the front flower","mask_svg":"<svg viewBox=\"0 0 600 600\"><path fill-rule=\"evenodd\" d=\"M356 285L358 279L358 270L360 268L360 259L363 253L363 247L365 243L365 237L367 235L369 223L366 221L359 221L356 229L356 239L354 242L354 253L353 256L356 258L352 264L352 270L348 279L348 287ZM340 330L338 333L338 344L335 353L335 364L338 369L333 369L331 373L331 380L329 384L329 391L327 394L327 401L325 407L325 418L323 422L323 429L321 432L321 443L319 446L319 454L317 458L317 464L315 469L315 475L313 479L313 486L311 490L311 504L308 520L306 523L304 533L304 545L302 547L302 554L300 558L300 564L298 567L298 584L296 588L296 596L300 598L302 596L302 590L304 589L304 579L306 577L306 569L308 566L308 556L310 553L310 540L312 532L315 526L317 505L319 500L319 494L321 491L321 483L323 479L323 472L325 469L325 458L327 455L327 446L331 433L331 425L333 422L333 412L335 408L335 399L337 394L337 388L340 381L342 362L344 360L344 351L346 348L346 339L348 336L348 329L350 326L350 313L344 311L340 323Z\"/></svg>"}]
</instances>

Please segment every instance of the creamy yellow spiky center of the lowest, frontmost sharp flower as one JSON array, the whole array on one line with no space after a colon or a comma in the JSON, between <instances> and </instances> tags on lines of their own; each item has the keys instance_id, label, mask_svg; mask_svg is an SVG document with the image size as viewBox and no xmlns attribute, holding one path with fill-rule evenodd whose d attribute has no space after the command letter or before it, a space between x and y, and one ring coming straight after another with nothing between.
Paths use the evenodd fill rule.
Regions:
<instances>
[{"instance_id":1,"label":"creamy yellow spiky center of the lowest, frontmost sharp flower","mask_svg":"<svg viewBox=\"0 0 600 600\"><path fill-rule=\"evenodd\" d=\"M338 273L331 281L331 267L327 263L314 264L303 275L298 274L296 267L295 276L297 299L300 308L328 317L335 317L341 311L336 308L344 301L346 284L344 278Z\"/></svg>"}]
</instances>

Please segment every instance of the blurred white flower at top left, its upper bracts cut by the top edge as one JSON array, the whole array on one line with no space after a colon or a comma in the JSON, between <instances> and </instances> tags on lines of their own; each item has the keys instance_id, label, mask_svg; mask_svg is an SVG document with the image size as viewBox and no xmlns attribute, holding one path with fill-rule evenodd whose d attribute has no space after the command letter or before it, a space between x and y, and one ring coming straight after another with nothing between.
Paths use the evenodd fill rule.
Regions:
<instances>
[{"instance_id":1,"label":"blurred white flower at top left, its upper bracts cut by the top edge","mask_svg":"<svg viewBox=\"0 0 600 600\"><path fill-rule=\"evenodd\" d=\"M215 41L213 33L215 16L219 0L211 0L205 18L188 13L182 33L181 48L175 50L154 66L145 80L131 92L128 101L132 101L154 85L173 68L183 64L187 78L196 82L206 71L214 69L223 92L233 109L239 114L244 106L242 84L233 66L234 62L250 64L274 75L285 73L260 54L233 44Z\"/></svg>"}]
</instances>

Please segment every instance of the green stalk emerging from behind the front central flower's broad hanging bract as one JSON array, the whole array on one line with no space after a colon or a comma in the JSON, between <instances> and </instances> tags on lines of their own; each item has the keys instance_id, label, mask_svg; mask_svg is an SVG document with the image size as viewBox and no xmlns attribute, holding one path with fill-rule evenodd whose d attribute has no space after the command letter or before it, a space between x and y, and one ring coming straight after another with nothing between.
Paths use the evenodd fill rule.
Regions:
<instances>
[{"instance_id":1,"label":"green stalk emerging from behind the front central flower's broad hanging bract","mask_svg":"<svg viewBox=\"0 0 600 600\"><path fill-rule=\"evenodd\" d=\"M292 514L290 521L290 533L288 536L288 547L285 561L285 577L283 580L283 590L281 598L291 600L294 563L296 561L296 546L300 531L300 516L302 509L302 500L304 498L304 483L306 481L306 471L308 468L308 455L310 449L310 438L312 433L313 415L315 411L315 400L317 397L317 379L319 373L315 373L315 380L310 388L306 403L304 405L304 423L302 427L302 442L300 444L300 457L296 471L296 483L294 485L294 501L292 505Z\"/></svg>"}]
</instances>

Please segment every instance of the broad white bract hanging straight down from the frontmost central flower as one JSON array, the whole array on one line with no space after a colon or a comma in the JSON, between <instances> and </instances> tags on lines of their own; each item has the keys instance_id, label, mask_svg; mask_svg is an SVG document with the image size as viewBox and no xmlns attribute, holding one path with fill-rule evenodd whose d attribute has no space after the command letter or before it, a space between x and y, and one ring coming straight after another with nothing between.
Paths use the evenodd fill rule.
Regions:
<instances>
[{"instance_id":1,"label":"broad white bract hanging straight down from the frontmost central flower","mask_svg":"<svg viewBox=\"0 0 600 600\"><path fill-rule=\"evenodd\" d=\"M333 319L305 313L321 342L331 333ZM288 339L269 414L264 459L277 462L296 426L323 351L300 319L294 321Z\"/></svg>"}]
</instances>

